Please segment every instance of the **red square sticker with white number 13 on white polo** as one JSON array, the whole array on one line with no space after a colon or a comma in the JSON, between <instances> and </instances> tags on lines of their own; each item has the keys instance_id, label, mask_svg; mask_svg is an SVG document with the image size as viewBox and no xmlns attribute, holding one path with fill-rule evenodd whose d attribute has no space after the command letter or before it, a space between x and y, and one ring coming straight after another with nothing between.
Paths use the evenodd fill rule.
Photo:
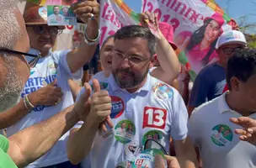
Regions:
<instances>
[{"instance_id":1,"label":"red square sticker with white number 13 on white polo","mask_svg":"<svg viewBox=\"0 0 256 168\"><path fill-rule=\"evenodd\" d=\"M146 127L154 129L164 129L166 123L166 116L166 109L145 107L143 113L142 129Z\"/></svg>"}]
</instances>

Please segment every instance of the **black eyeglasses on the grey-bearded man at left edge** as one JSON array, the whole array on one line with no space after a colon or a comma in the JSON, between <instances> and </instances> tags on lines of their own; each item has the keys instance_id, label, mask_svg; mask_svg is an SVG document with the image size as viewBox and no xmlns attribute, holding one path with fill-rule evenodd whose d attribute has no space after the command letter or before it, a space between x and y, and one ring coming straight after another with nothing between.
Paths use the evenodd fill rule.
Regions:
<instances>
[{"instance_id":1,"label":"black eyeglasses on the grey-bearded man at left edge","mask_svg":"<svg viewBox=\"0 0 256 168\"><path fill-rule=\"evenodd\" d=\"M17 50L0 49L0 53L1 52L13 54L13 55L26 55L29 57L33 57L33 59L29 60L29 62L28 62L30 68L34 68L35 65L37 64L38 60L42 57L40 53L39 53L39 55L33 55L33 54L29 54L29 53L20 52Z\"/></svg>"}]
</instances>

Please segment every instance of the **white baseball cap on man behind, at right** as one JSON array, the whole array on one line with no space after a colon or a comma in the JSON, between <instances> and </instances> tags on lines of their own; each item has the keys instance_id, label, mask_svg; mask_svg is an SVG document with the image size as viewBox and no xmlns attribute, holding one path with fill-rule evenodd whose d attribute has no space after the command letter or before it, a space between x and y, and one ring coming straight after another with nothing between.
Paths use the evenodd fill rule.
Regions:
<instances>
[{"instance_id":1,"label":"white baseball cap on man behind, at right","mask_svg":"<svg viewBox=\"0 0 256 168\"><path fill-rule=\"evenodd\" d=\"M219 49L221 45L226 44L241 44L246 45L246 39L242 32L237 30L230 30L221 34L216 43L216 49Z\"/></svg>"}]
</instances>

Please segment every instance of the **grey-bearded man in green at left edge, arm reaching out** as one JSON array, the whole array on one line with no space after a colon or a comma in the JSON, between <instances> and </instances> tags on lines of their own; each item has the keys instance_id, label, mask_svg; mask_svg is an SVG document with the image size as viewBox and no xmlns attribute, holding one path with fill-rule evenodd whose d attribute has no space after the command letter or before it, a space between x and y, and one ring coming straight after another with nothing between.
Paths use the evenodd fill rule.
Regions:
<instances>
[{"instance_id":1,"label":"grey-bearded man in green at left edge, arm reaching out","mask_svg":"<svg viewBox=\"0 0 256 168\"><path fill-rule=\"evenodd\" d=\"M19 9L14 8L16 3L16 0L0 0L0 125L2 128L12 122L15 123L13 118L22 118L25 112L29 113L24 99L21 98L19 102L20 92L29 78L29 65L24 58L29 51L29 38L24 18ZM90 90L89 86L87 88ZM99 83L96 83L93 89L99 91ZM99 98L103 93L105 94L100 91L97 93ZM67 133L78 121L84 121L85 118L90 118L90 121L97 120L99 112L88 113L89 104L85 105L89 95L88 92L88 95L83 95L75 106L72 105L43 122L19 131L8 139L0 135L0 167L17 168L29 165L30 162L45 155L61 135ZM8 109L17 102L17 107L9 111ZM103 101L99 100L99 102ZM17 108L19 110L15 111ZM104 118L110 113L110 108L107 109L109 112L105 108L105 116L101 113Z\"/></svg>"}]
</instances>

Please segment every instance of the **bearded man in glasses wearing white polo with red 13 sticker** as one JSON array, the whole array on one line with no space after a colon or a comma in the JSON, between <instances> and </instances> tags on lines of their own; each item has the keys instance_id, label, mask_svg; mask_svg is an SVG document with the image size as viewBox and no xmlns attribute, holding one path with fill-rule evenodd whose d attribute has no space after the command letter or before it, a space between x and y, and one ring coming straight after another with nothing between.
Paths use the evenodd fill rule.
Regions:
<instances>
[{"instance_id":1,"label":"bearded man in glasses wearing white polo with red 13 sticker","mask_svg":"<svg viewBox=\"0 0 256 168\"><path fill-rule=\"evenodd\" d=\"M132 162L135 158L131 157L129 146L140 147L148 134L157 133L165 150L172 136L182 167L196 167L195 150L187 137L188 112L182 97L173 87L148 73L156 45L151 31L138 25L125 26L115 33L112 74L100 82L111 97L110 118L115 127L96 134L98 126L87 120L79 129L72 129L67 144L72 163L83 160L92 145L86 160L92 168ZM123 123L124 129L130 129L131 133L120 134L118 129Z\"/></svg>"}]
</instances>

